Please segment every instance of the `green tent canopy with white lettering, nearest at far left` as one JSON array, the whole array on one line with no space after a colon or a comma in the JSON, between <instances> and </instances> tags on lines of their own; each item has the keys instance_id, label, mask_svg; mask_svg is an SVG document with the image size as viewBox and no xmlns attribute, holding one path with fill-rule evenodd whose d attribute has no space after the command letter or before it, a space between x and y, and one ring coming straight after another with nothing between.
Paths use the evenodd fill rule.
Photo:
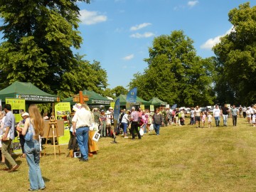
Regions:
<instances>
[{"instance_id":1,"label":"green tent canopy with white lettering, nearest at far left","mask_svg":"<svg viewBox=\"0 0 256 192\"><path fill-rule=\"evenodd\" d=\"M57 102L59 97L50 95L38 89L31 82L14 82L0 91L0 99L5 102L6 98L25 99L28 102Z\"/></svg>"}]
</instances>

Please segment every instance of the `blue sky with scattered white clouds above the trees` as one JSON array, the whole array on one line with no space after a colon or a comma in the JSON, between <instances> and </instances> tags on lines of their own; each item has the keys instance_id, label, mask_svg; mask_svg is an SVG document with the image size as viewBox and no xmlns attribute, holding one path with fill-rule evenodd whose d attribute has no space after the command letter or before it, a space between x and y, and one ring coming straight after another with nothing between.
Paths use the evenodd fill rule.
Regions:
<instances>
[{"instance_id":1,"label":"blue sky with scattered white clouds above the trees","mask_svg":"<svg viewBox=\"0 0 256 192\"><path fill-rule=\"evenodd\" d=\"M228 12L240 0L91 0L79 3L83 38L80 54L100 61L107 70L110 88L127 87L134 73L147 67L154 37L183 30L193 39L202 58L213 54L212 46L232 28ZM251 2L255 6L256 2Z\"/></svg>"}]
</instances>

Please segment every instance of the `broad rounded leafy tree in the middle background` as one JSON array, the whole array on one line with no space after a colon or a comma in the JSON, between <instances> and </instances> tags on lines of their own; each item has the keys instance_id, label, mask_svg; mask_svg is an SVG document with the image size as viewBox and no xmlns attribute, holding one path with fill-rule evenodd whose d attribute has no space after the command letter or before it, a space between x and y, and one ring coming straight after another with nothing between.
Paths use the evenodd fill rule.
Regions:
<instances>
[{"instance_id":1,"label":"broad rounded leafy tree in the middle background","mask_svg":"<svg viewBox=\"0 0 256 192\"><path fill-rule=\"evenodd\" d=\"M139 96L146 100L159 97L180 106L213 104L213 58L198 57L193 41L183 31L154 38L145 61L148 68L129 83L138 87Z\"/></svg>"}]
</instances>

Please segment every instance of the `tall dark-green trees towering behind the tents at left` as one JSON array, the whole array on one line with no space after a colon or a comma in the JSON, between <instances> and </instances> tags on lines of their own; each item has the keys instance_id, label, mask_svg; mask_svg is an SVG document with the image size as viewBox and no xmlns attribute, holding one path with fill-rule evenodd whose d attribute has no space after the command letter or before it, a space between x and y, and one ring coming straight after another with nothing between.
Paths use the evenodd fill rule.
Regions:
<instances>
[{"instance_id":1,"label":"tall dark-green trees towering behind the tents at left","mask_svg":"<svg viewBox=\"0 0 256 192\"><path fill-rule=\"evenodd\" d=\"M16 80L30 81L43 90L54 93L63 90L63 95L68 95L85 85L85 75L92 80L85 82L95 83L87 87L92 90L100 89L101 86L96 88L99 84L105 87L106 75L102 78L97 75L97 71L102 72L100 63L89 65L72 51L82 43L78 1L90 3L88 0L0 1L0 16L4 21L0 28L4 34L0 46L1 87ZM90 73L82 73L86 70Z\"/></svg>"}]
</instances>

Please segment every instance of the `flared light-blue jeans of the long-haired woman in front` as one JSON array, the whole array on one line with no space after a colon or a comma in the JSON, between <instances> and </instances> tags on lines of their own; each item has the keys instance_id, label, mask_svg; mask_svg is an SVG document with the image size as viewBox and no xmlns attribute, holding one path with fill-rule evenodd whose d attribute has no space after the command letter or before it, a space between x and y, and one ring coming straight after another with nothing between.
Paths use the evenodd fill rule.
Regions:
<instances>
[{"instance_id":1,"label":"flared light-blue jeans of the long-haired woman in front","mask_svg":"<svg viewBox=\"0 0 256 192\"><path fill-rule=\"evenodd\" d=\"M25 142L24 149L26 152L26 160L28 162L28 175L30 181L30 188L38 190L45 188L45 183L41 174L40 163L40 144L37 140L33 142Z\"/></svg>"}]
</instances>

